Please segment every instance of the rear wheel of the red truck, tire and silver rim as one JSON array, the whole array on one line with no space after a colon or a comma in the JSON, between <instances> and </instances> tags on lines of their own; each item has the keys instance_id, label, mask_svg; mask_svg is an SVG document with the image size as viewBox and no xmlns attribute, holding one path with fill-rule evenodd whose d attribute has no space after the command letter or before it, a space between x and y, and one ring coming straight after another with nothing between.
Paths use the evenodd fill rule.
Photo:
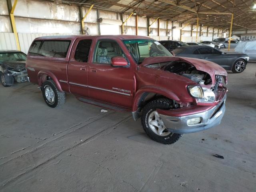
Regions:
<instances>
[{"instance_id":1,"label":"rear wheel of the red truck, tire and silver rim","mask_svg":"<svg viewBox=\"0 0 256 192\"><path fill-rule=\"evenodd\" d=\"M65 103L65 93L58 90L53 80L47 80L43 83L42 94L49 107L55 108Z\"/></svg>"}]
</instances>

